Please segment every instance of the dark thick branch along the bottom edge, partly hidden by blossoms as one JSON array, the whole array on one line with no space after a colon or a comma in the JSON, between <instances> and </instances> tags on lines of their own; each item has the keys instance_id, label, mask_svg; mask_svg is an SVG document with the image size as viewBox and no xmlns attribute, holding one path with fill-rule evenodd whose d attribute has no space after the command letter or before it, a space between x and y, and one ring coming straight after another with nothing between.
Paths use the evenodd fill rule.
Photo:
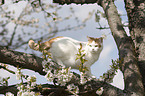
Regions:
<instances>
[{"instance_id":1,"label":"dark thick branch along the bottom edge, partly hidden by blossoms","mask_svg":"<svg viewBox=\"0 0 145 96\"><path fill-rule=\"evenodd\" d=\"M75 78L74 78L75 79ZM76 85L80 86L80 85ZM96 91L98 88L103 87L103 94L102 96L124 96L123 90L120 90L108 83L101 82L101 81L89 81L85 85L81 85L80 93L78 93L81 96L97 96ZM84 86L93 88L93 89L85 89ZM100 87L99 87L100 86ZM52 84L43 84L41 86L35 87L35 89L32 89L34 92L40 92L44 96L48 96L53 94L53 96L69 96L73 95L69 92L69 90L66 88L66 86L57 86ZM0 86L0 94L5 94L7 92L11 92L13 94L17 94L18 90L16 85L11 86Z\"/></svg>"}]
</instances>

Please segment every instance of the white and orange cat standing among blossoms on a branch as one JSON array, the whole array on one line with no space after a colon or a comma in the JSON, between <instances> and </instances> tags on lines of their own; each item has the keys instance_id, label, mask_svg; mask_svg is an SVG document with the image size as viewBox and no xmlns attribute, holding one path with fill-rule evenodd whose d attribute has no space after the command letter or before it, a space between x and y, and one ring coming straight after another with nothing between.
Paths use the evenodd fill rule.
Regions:
<instances>
[{"instance_id":1,"label":"white and orange cat standing among blossoms on a branch","mask_svg":"<svg viewBox=\"0 0 145 96\"><path fill-rule=\"evenodd\" d=\"M71 67L72 69L79 69L81 61L76 60L79 49L84 50L84 59L87 61L83 64L87 67L87 76L93 76L91 73L91 65L94 64L103 49L103 37L93 38L87 37L88 42L77 41L70 37L56 37L41 44L35 43L33 40L29 41L29 47L33 50L41 51L42 48L45 51L51 53L53 61L65 67Z\"/></svg>"}]
</instances>

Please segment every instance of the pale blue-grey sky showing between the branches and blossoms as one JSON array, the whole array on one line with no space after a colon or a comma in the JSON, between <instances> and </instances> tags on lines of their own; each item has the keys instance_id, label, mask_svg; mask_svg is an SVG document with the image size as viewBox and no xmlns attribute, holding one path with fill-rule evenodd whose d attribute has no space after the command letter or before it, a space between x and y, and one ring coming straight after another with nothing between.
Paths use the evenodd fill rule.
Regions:
<instances>
[{"instance_id":1,"label":"pale blue-grey sky showing between the branches and blossoms","mask_svg":"<svg viewBox=\"0 0 145 96\"><path fill-rule=\"evenodd\" d=\"M9 0L8 0L9 1ZM50 2L52 3L52 1ZM123 0L116 0L115 4L117 6L118 12L120 14L124 14L126 15L125 9L124 9L124 2ZM12 9L16 10L15 14L16 16L18 16L22 10L22 7L25 5L24 2L20 2L18 4L15 5L9 5L11 6ZM84 20L85 18L87 18L89 12L95 10L100 10L103 12L103 9L98 6L97 4L89 4L89 5L75 5L75 4L71 4L71 5L63 5L61 11L59 12L59 15L61 15L62 17L64 16L68 16L69 14L69 7L73 7L75 13L74 15L76 17L78 17L79 20ZM64 14L65 13L65 14ZM37 17L37 16L36 16ZM40 15L38 15L38 18L41 18ZM122 22L126 23L127 21L127 17L126 16L121 16L122 18ZM41 22L43 22L44 20L40 19ZM64 28L64 26L71 24L71 25L75 25L76 22L74 21L74 19L70 19L69 21L66 22L62 22L60 24L58 24L59 28ZM100 20L100 24L102 26L108 26L108 23L106 21L105 18L101 18ZM126 23L127 24L127 23ZM112 64L111 61L116 60L118 58L118 50L115 44L115 41L111 35L111 32L109 29L106 30L98 30L96 29L98 26L98 23L95 22L95 15L93 14L93 16L91 17L90 20L88 20L86 22L86 27L81 29L81 30L68 30L68 31L64 31L64 32L60 32L58 33L56 36L66 36L66 37L71 37L73 39L79 40L79 41L87 41L87 36L90 37L100 37L103 34L107 35L107 38L103 41L103 51L100 54L99 60L93 64L91 66L91 70L92 70L92 74L94 76L96 76L97 78L99 78L104 72L107 72L107 70L110 69L110 65ZM8 26L8 29L11 30L13 28L13 24L10 24ZM28 29L30 30L30 29ZM125 28L125 30L128 33L128 29ZM56 37L55 36L55 37ZM18 49L18 51L21 52L28 52L31 53L32 50L30 48L28 48L28 51L25 50L21 50ZM40 52L37 52L39 55L41 54ZM16 70L14 67L10 66L9 68L12 68L12 70ZM76 70L73 70L77 73L79 73ZM47 80L44 78L44 76L40 76L38 73L32 72L30 70L23 70L24 74L30 74L30 75L36 75L37 77L37 83L41 83L44 84L47 82ZM4 70L0 70L0 76L1 77L6 77L6 76L10 76L11 79L9 80L10 84L16 84L17 82L19 82L18 80L16 80L15 75L13 74L9 74L8 72L4 71ZM114 77L113 79L113 83L111 83L112 85L119 87L121 89L124 88L124 84L123 84L123 75L121 73L121 71L118 70L117 75Z\"/></svg>"}]
</instances>

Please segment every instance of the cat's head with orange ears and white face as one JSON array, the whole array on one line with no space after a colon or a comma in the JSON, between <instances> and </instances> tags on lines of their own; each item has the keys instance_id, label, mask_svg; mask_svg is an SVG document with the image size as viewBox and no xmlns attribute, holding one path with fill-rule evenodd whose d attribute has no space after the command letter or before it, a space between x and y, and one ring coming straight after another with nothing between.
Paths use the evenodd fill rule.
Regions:
<instances>
[{"instance_id":1,"label":"cat's head with orange ears and white face","mask_svg":"<svg viewBox=\"0 0 145 96\"><path fill-rule=\"evenodd\" d=\"M103 49L103 38L93 38L93 37L88 37L88 50L92 53L96 53L99 51L102 51Z\"/></svg>"}]
</instances>

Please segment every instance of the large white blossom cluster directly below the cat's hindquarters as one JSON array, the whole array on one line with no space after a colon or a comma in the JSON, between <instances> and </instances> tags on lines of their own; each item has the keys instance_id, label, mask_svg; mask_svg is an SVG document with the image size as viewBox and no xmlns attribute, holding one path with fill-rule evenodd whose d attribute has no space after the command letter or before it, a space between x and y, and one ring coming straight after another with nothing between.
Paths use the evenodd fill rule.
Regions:
<instances>
[{"instance_id":1,"label":"large white blossom cluster directly below the cat's hindquarters","mask_svg":"<svg viewBox=\"0 0 145 96\"><path fill-rule=\"evenodd\" d=\"M54 66L55 62L51 60L44 60L42 62L42 65L44 67L44 71L47 72L45 75L45 78L49 81L52 82L54 79L57 79L57 83L59 85L65 85L67 82L69 82L73 76L73 73L70 71L71 67L65 68L65 67L60 67L61 65L57 65L58 67Z\"/></svg>"}]
</instances>

